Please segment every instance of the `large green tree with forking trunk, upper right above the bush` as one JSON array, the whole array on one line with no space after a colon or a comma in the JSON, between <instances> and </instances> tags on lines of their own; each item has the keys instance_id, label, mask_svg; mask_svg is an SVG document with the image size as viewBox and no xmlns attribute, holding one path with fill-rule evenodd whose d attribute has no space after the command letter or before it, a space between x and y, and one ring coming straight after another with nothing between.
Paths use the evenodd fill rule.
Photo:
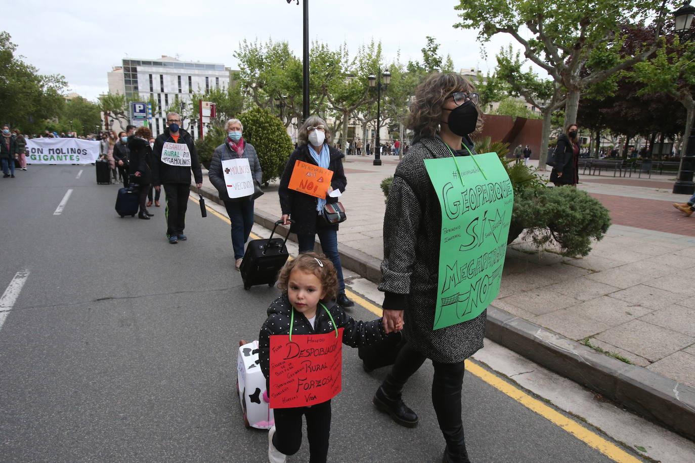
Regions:
<instances>
[{"instance_id":1,"label":"large green tree with forking trunk, upper right above the bush","mask_svg":"<svg viewBox=\"0 0 695 463\"><path fill-rule=\"evenodd\" d=\"M621 56L621 26L646 21L661 8L660 0L461 0L455 6L461 22L455 27L477 29L480 42L500 33L514 37L525 57L566 89L567 125L575 122L584 90L655 51L654 46L645 46L634 56ZM531 38L525 38L525 31Z\"/></svg>"}]
</instances>

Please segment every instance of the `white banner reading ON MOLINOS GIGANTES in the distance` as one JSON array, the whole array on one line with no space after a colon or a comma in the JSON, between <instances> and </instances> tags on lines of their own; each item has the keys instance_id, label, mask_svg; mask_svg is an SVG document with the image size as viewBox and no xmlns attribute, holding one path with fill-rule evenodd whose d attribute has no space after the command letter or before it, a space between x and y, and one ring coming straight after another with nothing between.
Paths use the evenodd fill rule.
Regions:
<instances>
[{"instance_id":1,"label":"white banner reading ON MOLINOS GIGANTES in the distance","mask_svg":"<svg viewBox=\"0 0 695 463\"><path fill-rule=\"evenodd\" d=\"M99 158L99 142L79 138L26 140L29 164L90 164Z\"/></svg>"}]
</instances>

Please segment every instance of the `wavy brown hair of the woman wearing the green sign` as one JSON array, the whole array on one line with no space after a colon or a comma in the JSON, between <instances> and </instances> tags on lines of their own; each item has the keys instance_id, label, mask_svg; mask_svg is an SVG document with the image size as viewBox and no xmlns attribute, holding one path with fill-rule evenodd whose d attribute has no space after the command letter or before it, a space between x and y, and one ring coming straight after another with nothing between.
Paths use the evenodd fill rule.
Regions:
<instances>
[{"instance_id":1,"label":"wavy brown hair of the woman wearing the green sign","mask_svg":"<svg viewBox=\"0 0 695 463\"><path fill-rule=\"evenodd\" d=\"M475 86L461 74L441 72L430 74L418 85L415 96L410 103L408 128L423 137L431 137L439 129L444 101L455 92L473 93ZM482 129L482 110L478 111L475 131Z\"/></svg>"}]
</instances>

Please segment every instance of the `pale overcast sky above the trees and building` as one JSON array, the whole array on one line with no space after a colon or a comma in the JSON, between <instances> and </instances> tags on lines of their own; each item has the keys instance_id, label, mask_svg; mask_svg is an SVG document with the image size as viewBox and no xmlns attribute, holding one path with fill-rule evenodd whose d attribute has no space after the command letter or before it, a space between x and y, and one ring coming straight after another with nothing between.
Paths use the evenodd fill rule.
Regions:
<instances>
[{"instance_id":1,"label":"pale overcast sky above the trees and building","mask_svg":"<svg viewBox=\"0 0 695 463\"><path fill-rule=\"evenodd\" d=\"M106 72L122 58L179 56L181 60L220 62L238 69L233 56L241 40L287 40L302 56L302 4L296 0L115 1L22 0L12 5L1 26L19 54L42 74L63 74L70 91L87 99L106 92ZM485 60L475 31L452 27L456 0L311 0L310 40L332 49L345 42L350 54L372 39L382 42L386 62L422 60L431 35L455 69L495 67L495 54L511 43L496 37Z\"/></svg>"}]
</instances>

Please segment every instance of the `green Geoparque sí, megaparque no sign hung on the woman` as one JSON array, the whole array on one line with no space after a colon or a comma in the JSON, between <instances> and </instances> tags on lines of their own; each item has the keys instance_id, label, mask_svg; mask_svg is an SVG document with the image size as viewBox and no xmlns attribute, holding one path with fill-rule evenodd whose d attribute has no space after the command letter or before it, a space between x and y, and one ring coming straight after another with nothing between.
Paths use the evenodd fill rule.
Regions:
<instances>
[{"instance_id":1,"label":"green Geoparque s\u00ed, megaparque no sign hung on the woman","mask_svg":"<svg viewBox=\"0 0 695 463\"><path fill-rule=\"evenodd\" d=\"M441 205L436 330L474 319L500 292L514 191L496 153L425 168Z\"/></svg>"}]
</instances>

